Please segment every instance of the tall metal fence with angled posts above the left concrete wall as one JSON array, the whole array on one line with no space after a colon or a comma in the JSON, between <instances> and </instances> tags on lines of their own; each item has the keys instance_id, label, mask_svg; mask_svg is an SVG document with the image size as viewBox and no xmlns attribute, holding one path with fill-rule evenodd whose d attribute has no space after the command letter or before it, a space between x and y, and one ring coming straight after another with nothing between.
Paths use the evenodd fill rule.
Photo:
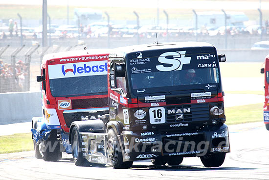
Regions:
<instances>
[{"instance_id":1,"label":"tall metal fence with angled posts above the left concrete wall","mask_svg":"<svg viewBox=\"0 0 269 180\"><path fill-rule=\"evenodd\" d=\"M81 46L41 48L2 47L0 48L0 93L38 91L40 83L36 76L40 75L41 61L45 53L83 49Z\"/></svg>"}]
</instances>

